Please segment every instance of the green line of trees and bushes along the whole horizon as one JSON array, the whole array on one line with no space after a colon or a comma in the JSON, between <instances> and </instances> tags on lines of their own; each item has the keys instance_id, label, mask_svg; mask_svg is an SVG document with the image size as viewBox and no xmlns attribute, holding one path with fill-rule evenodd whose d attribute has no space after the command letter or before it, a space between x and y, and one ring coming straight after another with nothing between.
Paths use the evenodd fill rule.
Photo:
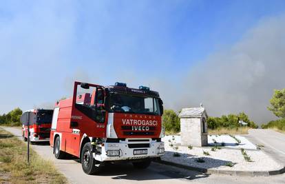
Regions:
<instances>
[{"instance_id":1,"label":"green line of trees and bushes along the whole horizon","mask_svg":"<svg viewBox=\"0 0 285 184\"><path fill-rule=\"evenodd\" d=\"M270 100L268 110L273 112L279 119L276 121L269 121L262 125L262 128L275 127L279 130L285 131L285 89L275 90L272 99ZM7 114L0 115L0 125L18 126L21 125L20 117L23 111L20 108L15 108ZM207 120L210 129L217 129L220 127L236 128L239 127L238 121L242 120L248 123L249 127L257 128L255 122L249 119L249 116L244 112L239 114L229 114L220 117L210 116ZM180 132L180 119L178 113L174 110L165 110L162 116L163 126L167 132Z\"/></svg>"}]
</instances>

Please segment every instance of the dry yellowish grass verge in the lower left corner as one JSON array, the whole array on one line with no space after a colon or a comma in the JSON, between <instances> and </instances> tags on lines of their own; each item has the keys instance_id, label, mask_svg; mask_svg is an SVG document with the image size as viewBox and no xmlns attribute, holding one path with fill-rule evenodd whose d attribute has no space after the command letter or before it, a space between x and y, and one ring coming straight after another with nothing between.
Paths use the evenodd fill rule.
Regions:
<instances>
[{"instance_id":1,"label":"dry yellowish grass verge in the lower left corner","mask_svg":"<svg viewBox=\"0 0 285 184\"><path fill-rule=\"evenodd\" d=\"M50 161L45 161L27 145L0 128L0 183L67 183Z\"/></svg>"}]
</instances>

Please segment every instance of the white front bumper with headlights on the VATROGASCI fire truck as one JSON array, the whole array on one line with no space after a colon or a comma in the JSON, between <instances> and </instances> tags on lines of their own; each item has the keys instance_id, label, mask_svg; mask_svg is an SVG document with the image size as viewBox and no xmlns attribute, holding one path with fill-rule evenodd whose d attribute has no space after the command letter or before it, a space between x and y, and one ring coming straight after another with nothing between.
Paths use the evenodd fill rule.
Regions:
<instances>
[{"instance_id":1,"label":"white front bumper with headlights on the VATROGASCI fire truck","mask_svg":"<svg viewBox=\"0 0 285 184\"><path fill-rule=\"evenodd\" d=\"M94 152L96 161L120 161L146 159L162 156L165 153L163 142L151 139L126 139L119 143L104 143Z\"/></svg>"}]
</instances>

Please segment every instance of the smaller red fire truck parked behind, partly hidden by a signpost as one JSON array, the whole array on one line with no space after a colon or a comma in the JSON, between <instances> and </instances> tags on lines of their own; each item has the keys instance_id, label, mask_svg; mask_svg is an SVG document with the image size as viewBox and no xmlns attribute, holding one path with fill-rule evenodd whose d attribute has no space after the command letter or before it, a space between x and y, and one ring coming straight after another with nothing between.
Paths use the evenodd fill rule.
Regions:
<instances>
[{"instance_id":1,"label":"smaller red fire truck parked behind, partly hidden by a signpost","mask_svg":"<svg viewBox=\"0 0 285 184\"><path fill-rule=\"evenodd\" d=\"M25 112L34 112L36 115L36 123L30 125L30 141L32 143L50 141L50 127L52 127L53 110L33 109ZM22 137L24 141L27 141L28 126L23 125Z\"/></svg>"}]
</instances>

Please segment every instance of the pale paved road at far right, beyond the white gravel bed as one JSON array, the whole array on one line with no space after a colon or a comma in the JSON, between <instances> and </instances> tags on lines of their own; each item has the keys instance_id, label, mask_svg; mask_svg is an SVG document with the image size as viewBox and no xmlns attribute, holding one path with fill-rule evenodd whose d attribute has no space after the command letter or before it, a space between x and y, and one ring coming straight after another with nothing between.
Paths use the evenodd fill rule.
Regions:
<instances>
[{"instance_id":1,"label":"pale paved road at far right, beyond the white gravel bed","mask_svg":"<svg viewBox=\"0 0 285 184\"><path fill-rule=\"evenodd\" d=\"M252 143L264 145L264 152L285 165L285 134L273 130L251 129L246 138Z\"/></svg>"}]
</instances>

